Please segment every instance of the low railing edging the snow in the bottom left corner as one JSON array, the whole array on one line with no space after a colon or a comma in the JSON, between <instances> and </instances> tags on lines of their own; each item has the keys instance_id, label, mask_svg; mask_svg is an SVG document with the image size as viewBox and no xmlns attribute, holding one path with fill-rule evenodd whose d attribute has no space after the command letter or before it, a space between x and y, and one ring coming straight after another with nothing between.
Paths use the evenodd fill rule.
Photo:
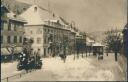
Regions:
<instances>
[{"instance_id":1,"label":"low railing edging the snow in the bottom left corner","mask_svg":"<svg viewBox=\"0 0 128 82\"><path fill-rule=\"evenodd\" d=\"M32 71L34 71L34 70L31 70L31 71L28 71L28 72L25 71L25 72L22 72L22 73L19 73L19 74L16 74L16 75L5 77L5 78L1 79L1 82L9 82L9 81L12 81L14 79L21 78L23 75L25 75L27 73L31 73Z\"/></svg>"}]
</instances>

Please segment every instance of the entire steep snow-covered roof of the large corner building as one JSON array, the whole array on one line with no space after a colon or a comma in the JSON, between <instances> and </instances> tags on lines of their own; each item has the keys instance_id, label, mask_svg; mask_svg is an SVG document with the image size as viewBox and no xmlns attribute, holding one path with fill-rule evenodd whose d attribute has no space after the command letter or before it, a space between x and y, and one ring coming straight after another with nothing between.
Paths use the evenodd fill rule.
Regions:
<instances>
[{"instance_id":1,"label":"entire steep snow-covered roof of the large corner building","mask_svg":"<svg viewBox=\"0 0 128 82\"><path fill-rule=\"evenodd\" d=\"M27 20L27 25L42 25L44 21L57 20L57 17L53 14L41 6L32 5L20 16Z\"/></svg>"}]
</instances>

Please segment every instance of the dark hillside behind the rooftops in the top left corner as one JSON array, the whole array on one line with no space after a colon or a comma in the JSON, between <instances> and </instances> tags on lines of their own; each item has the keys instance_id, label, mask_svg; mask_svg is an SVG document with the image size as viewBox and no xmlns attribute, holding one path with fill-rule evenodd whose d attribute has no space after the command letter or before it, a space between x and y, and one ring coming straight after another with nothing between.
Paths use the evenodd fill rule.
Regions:
<instances>
[{"instance_id":1,"label":"dark hillside behind the rooftops in the top left corner","mask_svg":"<svg viewBox=\"0 0 128 82\"><path fill-rule=\"evenodd\" d=\"M24 10L30 7L30 4L19 2L16 0L1 0L2 4L5 5L10 11L15 14L21 14Z\"/></svg>"}]
</instances>

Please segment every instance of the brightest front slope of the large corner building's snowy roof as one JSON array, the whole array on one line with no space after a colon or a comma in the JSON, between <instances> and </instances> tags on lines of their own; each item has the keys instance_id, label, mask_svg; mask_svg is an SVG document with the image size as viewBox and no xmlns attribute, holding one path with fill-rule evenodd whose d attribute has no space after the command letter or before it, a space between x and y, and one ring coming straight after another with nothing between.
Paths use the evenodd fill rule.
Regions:
<instances>
[{"instance_id":1,"label":"brightest front slope of the large corner building's snowy roof","mask_svg":"<svg viewBox=\"0 0 128 82\"><path fill-rule=\"evenodd\" d=\"M20 16L27 21L27 25L41 25L43 24L43 21L40 11L41 9L37 5L33 5Z\"/></svg>"}]
</instances>

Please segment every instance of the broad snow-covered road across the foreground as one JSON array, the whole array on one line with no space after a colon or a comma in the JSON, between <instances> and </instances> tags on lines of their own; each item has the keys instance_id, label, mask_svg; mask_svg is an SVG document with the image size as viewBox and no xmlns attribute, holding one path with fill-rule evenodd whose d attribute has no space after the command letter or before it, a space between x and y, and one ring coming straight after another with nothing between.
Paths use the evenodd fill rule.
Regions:
<instances>
[{"instance_id":1,"label":"broad snow-covered road across the foreground","mask_svg":"<svg viewBox=\"0 0 128 82\"><path fill-rule=\"evenodd\" d=\"M104 55L104 60L94 56L73 60L68 56L66 63L59 58L45 58L41 70L26 74L15 81L117 81L123 80L114 55Z\"/></svg>"}]
</instances>

